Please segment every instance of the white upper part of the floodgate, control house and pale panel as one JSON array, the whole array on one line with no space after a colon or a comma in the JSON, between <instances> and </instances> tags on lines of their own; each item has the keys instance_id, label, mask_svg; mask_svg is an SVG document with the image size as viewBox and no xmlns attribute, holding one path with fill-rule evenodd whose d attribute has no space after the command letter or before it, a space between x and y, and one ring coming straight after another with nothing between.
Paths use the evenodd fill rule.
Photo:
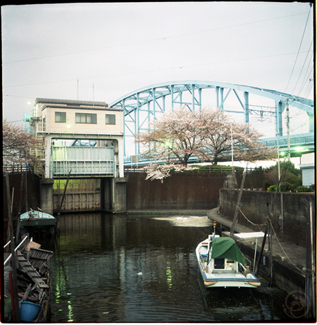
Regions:
<instances>
[{"instance_id":1,"label":"white upper part of the floodgate, control house and pale panel","mask_svg":"<svg viewBox=\"0 0 317 325\"><path fill-rule=\"evenodd\" d=\"M44 141L44 178L123 177L123 112L105 102L37 98L30 118L34 135ZM74 140L72 146L55 145ZM94 147L76 146L93 141ZM69 143L70 141L68 141Z\"/></svg>"}]
</instances>

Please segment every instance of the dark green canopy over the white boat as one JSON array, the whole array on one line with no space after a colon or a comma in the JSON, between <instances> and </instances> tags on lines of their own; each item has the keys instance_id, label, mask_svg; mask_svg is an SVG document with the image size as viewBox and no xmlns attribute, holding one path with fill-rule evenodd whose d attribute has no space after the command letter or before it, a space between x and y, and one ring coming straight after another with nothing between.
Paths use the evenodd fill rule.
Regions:
<instances>
[{"instance_id":1,"label":"dark green canopy over the white boat","mask_svg":"<svg viewBox=\"0 0 317 325\"><path fill-rule=\"evenodd\" d=\"M245 265L245 258L240 249L236 246L236 242L229 237L214 238L211 258L228 258Z\"/></svg>"}]
</instances>

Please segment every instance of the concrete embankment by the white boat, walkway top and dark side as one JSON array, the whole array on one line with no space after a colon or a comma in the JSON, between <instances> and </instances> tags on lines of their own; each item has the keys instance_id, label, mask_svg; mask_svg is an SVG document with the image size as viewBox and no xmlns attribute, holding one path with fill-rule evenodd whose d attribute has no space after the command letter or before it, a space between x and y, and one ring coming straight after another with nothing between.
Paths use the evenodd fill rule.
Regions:
<instances>
[{"instance_id":1,"label":"concrete embankment by the white boat, walkway top and dark side","mask_svg":"<svg viewBox=\"0 0 317 325\"><path fill-rule=\"evenodd\" d=\"M228 220L218 215L218 208L207 211L210 220L216 221L218 228L223 231L223 235L229 235L232 228L232 220ZM227 231L226 231L227 230ZM236 224L235 233L252 233L253 229ZM260 256L263 238L241 238L235 237L238 247L247 259L254 265L254 253L256 250L256 260ZM285 293L292 291L305 292L305 264L307 250L289 242L280 242L276 236L272 238L272 284ZM259 274L266 280L270 280L269 275L269 251L268 240L265 242L265 250L260 262Z\"/></svg>"}]
</instances>

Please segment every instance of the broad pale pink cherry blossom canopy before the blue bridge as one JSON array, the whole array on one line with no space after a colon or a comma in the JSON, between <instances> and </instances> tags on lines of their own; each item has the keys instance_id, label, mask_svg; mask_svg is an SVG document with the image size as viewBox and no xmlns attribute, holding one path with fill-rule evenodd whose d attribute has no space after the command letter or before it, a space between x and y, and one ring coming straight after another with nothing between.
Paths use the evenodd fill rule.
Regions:
<instances>
[{"instance_id":1,"label":"broad pale pink cherry blossom canopy before the blue bridge","mask_svg":"<svg viewBox=\"0 0 317 325\"><path fill-rule=\"evenodd\" d=\"M217 164L232 159L256 161L276 158L276 151L258 142L262 135L250 125L235 123L220 109L193 112L180 107L154 120L150 130L136 136L143 156L187 166L196 156L201 162Z\"/></svg>"}]
</instances>

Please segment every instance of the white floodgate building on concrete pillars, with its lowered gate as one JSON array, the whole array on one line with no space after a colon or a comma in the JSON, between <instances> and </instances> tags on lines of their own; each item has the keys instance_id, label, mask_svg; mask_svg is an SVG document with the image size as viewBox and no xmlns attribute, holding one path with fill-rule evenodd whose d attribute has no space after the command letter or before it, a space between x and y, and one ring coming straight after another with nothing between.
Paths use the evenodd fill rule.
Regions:
<instances>
[{"instance_id":1,"label":"white floodgate building on concrete pillars, with its lowered gate","mask_svg":"<svg viewBox=\"0 0 317 325\"><path fill-rule=\"evenodd\" d=\"M37 152L43 162L43 211L59 210L66 183L61 211L125 211L121 109L105 102L37 98L25 121L43 141Z\"/></svg>"}]
</instances>

